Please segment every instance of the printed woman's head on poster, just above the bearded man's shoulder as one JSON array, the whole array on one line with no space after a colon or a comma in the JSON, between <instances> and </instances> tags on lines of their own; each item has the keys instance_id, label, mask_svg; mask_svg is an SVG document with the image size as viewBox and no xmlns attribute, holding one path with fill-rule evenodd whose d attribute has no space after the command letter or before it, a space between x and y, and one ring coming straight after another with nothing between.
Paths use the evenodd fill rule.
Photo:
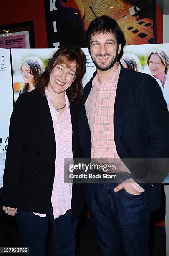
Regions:
<instances>
[{"instance_id":1,"label":"printed woman's head on poster, just above the bearded man's shoulder","mask_svg":"<svg viewBox=\"0 0 169 256\"><path fill-rule=\"evenodd\" d=\"M121 59L121 64L123 67L130 69L130 70L135 70L138 72L142 72L141 64L139 61L139 58L134 55L134 54L125 54Z\"/></svg>"}]
</instances>

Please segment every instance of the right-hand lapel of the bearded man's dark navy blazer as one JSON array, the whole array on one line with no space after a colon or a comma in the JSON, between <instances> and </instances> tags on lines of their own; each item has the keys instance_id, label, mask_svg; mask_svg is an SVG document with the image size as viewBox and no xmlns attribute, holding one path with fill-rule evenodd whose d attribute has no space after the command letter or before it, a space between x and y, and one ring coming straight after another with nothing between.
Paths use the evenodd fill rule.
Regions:
<instances>
[{"instance_id":1,"label":"right-hand lapel of the bearded man's dark navy blazer","mask_svg":"<svg viewBox=\"0 0 169 256\"><path fill-rule=\"evenodd\" d=\"M114 141L116 144L116 148L118 147L119 139L121 135L124 106L125 106L125 100L126 100L126 91L127 91L126 71L124 67L121 65L121 71L118 79L116 98L115 98L115 104L114 104Z\"/></svg>"}]
</instances>

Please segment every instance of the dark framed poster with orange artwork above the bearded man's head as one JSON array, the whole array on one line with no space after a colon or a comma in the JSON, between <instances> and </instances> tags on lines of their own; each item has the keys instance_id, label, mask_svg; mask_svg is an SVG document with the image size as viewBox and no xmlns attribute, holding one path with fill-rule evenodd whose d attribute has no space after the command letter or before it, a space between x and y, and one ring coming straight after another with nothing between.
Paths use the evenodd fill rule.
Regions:
<instances>
[{"instance_id":1,"label":"dark framed poster with orange artwork above the bearded man's head","mask_svg":"<svg viewBox=\"0 0 169 256\"><path fill-rule=\"evenodd\" d=\"M126 45L156 43L154 0L45 0L48 47L66 44L86 47L85 32L101 15L114 18Z\"/></svg>"}]
</instances>

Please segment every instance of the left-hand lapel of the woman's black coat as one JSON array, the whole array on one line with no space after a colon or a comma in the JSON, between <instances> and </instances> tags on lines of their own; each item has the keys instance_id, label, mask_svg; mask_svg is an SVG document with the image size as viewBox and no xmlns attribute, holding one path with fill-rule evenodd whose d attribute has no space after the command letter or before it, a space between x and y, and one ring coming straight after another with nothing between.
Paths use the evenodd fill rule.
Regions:
<instances>
[{"instance_id":1,"label":"left-hand lapel of the woman's black coat","mask_svg":"<svg viewBox=\"0 0 169 256\"><path fill-rule=\"evenodd\" d=\"M36 89L34 91L35 91L35 100L33 104L34 104L34 110L37 115L37 118L45 126L46 130L48 131L48 133L50 133L53 139L55 139L52 116L50 113L48 101L46 97L38 93Z\"/></svg>"}]
</instances>

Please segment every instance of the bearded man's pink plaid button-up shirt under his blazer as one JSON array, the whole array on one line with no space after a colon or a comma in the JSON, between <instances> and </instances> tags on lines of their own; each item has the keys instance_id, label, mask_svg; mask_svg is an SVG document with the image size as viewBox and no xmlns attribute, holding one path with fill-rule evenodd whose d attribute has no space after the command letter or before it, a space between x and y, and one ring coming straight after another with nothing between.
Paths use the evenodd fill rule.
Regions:
<instances>
[{"instance_id":1,"label":"bearded man's pink plaid button-up shirt under his blazer","mask_svg":"<svg viewBox=\"0 0 169 256\"><path fill-rule=\"evenodd\" d=\"M85 102L86 115L91 130L91 158L106 159L107 163L116 163L116 172L130 172L119 158L114 142L114 103L120 65L116 72L98 81L98 75L93 78L92 88ZM139 192L144 192L131 179L132 186Z\"/></svg>"}]
</instances>

